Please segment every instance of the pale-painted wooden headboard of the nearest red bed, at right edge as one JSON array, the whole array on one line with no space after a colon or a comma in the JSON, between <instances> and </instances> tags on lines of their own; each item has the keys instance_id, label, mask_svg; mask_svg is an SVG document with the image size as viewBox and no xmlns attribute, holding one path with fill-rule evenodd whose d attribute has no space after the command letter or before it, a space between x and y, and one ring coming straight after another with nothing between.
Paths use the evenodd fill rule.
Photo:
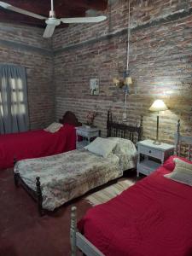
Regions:
<instances>
[{"instance_id":1,"label":"pale-painted wooden headboard of the nearest red bed, at right edge","mask_svg":"<svg viewBox=\"0 0 192 256\"><path fill-rule=\"evenodd\" d=\"M184 148L182 148L182 146ZM192 159L192 137L180 134L180 119L177 121L177 132L175 135L175 149L178 156L187 154L188 160Z\"/></svg>"}]
</instances>

